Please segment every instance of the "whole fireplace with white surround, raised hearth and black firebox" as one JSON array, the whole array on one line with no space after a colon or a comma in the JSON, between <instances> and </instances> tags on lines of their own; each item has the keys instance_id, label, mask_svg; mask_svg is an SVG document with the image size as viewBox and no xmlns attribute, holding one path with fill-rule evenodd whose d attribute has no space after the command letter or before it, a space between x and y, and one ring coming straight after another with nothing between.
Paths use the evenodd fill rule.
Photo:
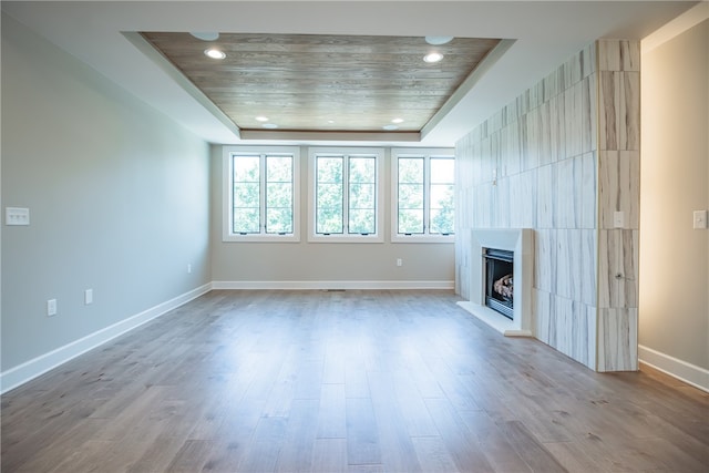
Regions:
<instances>
[{"instance_id":1,"label":"whole fireplace with white surround, raised hearth and black firebox","mask_svg":"<svg viewBox=\"0 0 709 473\"><path fill-rule=\"evenodd\" d=\"M458 304L507 337L533 337L534 230L473 228L470 236L470 300Z\"/></svg>"}]
</instances>

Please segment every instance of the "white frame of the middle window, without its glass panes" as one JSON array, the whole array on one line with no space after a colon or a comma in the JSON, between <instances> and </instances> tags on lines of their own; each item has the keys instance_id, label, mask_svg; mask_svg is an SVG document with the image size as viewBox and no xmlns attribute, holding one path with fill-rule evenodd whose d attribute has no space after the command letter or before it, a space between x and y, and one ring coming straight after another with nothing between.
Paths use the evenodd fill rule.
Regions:
<instances>
[{"instance_id":1,"label":"white frame of the middle window, without its glass panes","mask_svg":"<svg viewBox=\"0 0 709 473\"><path fill-rule=\"evenodd\" d=\"M343 155L358 156L371 155L377 161L377 183L374 205L377 212L374 215L374 226L377 232L368 235L348 234L347 233L347 208L343 215L342 234L322 235L316 233L316 158L318 155ZM383 243L384 230L384 148L381 147L309 147L308 148L308 241L312 243ZM345 193L347 194L347 183L345 184Z\"/></svg>"}]
</instances>

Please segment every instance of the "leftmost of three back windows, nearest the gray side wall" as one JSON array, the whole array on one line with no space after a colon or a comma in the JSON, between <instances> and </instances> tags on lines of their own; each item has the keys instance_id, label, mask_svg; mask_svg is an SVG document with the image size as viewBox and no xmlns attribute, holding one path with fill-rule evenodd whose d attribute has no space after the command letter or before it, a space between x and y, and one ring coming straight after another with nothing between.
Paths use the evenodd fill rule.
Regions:
<instances>
[{"instance_id":1,"label":"leftmost of three back windows, nearest the gray side wall","mask_svg":"<svg viewBox=\"0 0 709 473\"><path fill-rule=\"evenodd\" d=\"M298 241L297 147L224 148L225 241Z\"/></svg>"}]
</instances>

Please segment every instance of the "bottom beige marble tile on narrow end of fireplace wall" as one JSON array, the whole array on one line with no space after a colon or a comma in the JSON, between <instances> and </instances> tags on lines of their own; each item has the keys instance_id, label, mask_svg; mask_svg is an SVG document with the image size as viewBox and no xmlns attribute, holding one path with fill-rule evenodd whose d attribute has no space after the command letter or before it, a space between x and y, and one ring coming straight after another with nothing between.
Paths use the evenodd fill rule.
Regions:
<instances>
[{"instance_id":1,"label":"bottom beige marble tile on narrow end of fireplace wall","mask_svg":"<svg viewBox=\"0 0 709 473\"><path fill-rule=\"evenodd\" d=\"M597 371L638 369L638 310L598 310Z\"/></svg>"}]
</instances>

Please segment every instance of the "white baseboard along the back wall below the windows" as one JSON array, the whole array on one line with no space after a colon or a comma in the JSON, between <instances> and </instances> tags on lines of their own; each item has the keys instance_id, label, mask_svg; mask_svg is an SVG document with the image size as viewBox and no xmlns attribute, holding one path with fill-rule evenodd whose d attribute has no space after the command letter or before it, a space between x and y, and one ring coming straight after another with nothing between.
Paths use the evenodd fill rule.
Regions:
<instances>
[{"instance_id":1,"label":"white baseboard along the back wall below the windows","mask_svg":"<svg viewBox=\"0 0 709 473\"><path fill-rule=\"evenodd\" d=\"M213 281L213 289L453 289L455 281Z\"/></svg>"}]
</instances>

